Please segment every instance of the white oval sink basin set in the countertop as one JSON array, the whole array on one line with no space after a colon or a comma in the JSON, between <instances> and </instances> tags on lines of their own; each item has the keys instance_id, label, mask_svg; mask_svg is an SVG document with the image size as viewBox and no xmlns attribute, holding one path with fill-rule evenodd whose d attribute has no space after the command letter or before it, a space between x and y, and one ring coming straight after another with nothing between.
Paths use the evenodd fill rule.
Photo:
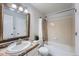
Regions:
<instances>
[{"instance_id":1,"label":"white oval sink basin set in the countertop","mask_svg":"<svg viewBox=\"0 0 79 59\"><path fill-rule=\"evenodd\" d=\"M10 44L6 50L8 51L8 53L18 53L20 51L27 49L30 46L31 46L31 42L29 41L22 41L22 43L19 45L17 45L17 42L14 42Z\"/></svg>"}]
</instances>

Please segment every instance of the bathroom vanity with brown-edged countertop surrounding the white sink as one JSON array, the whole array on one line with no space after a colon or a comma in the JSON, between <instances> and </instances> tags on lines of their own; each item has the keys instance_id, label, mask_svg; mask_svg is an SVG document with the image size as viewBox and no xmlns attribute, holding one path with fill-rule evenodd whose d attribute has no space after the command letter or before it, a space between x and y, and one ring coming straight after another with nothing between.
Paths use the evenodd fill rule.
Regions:
<instances>
[{"instance_id":1,"label":"bathroom vanity with brown-edged countertop surrounding the white sink","mask_svg":"<svg viewBox=\"0 0 79 59\"><path fill-rule=\"evenodd\" d=\"M24 41L24 42L29 42L29 41ZM11 48L11 44L8 47ZM4 49L1 49L0 50L0 55L2 55L2 56L24 56L24 55L25 56L34 56L35 55L36 56L36 55L38 55L38 47L39 47L39 44L36 43L36 42L31 42L31 45L28 48L25 48L22 51L19 51L17 53L8 51L7 50L8 47L6 47Z\"/></svg>"}]
</instances>

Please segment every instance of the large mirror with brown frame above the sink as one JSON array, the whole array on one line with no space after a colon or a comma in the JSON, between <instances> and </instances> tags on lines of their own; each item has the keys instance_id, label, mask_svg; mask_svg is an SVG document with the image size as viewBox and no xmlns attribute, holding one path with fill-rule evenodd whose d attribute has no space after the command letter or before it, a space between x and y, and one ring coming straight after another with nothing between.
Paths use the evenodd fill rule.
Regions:
<instances>
[{"instance_id":1,"label":"large mirror with brown frame above the sink","mask_svg":"<svg viewBox=\"0 0 79 59\"><path fill-rule=\"evenodd\" d=\"M17 8L18 7L19 6L17 5ZM2 8L2 41L28 38L30 36L30 14L24 13L24 10L22 12L18 9L12 10L10 7L8 7L8 4L3 4ZM22 8L24 9L23 6Z\"/></svg>"}]
</instances>

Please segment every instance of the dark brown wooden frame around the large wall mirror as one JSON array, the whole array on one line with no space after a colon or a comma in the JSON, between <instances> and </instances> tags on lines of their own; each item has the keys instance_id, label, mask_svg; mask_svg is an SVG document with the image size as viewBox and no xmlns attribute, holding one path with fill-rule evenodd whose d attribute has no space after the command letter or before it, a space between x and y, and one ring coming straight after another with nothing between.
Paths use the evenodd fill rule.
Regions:
<instances>
[{"instance_id":1,"label":"dark brown wooden frame around the large wall mirror","mask_svg":"<svg viewBox=\"0 0 79 59\"><path fill-rule=\"evenodd\" d=\"M0 29L1 29L1 33L0 33L0 37L1 37L1 40L0 40L0 43L4 43L4 42L8 42L8 41L13 41L13 40L17 40L17 39L19 39L19 38L26 38L26 39L28 39L29 37L30 37L30 13L27 13L26 15L27 15L27 17L28 17L28 29L27 29L27 36L20 36L20 37L14 37L14 38L9 38L9 39L6 39L6 40L3 40L3 16L4 16L4 14L3 14L3 9L4 9L4 5L5 5L5 3L3 3L3 4L0 4L1 6L2 6L2 15L1 15L1 21L0 21Z\"/></svg>"}]
</instances>

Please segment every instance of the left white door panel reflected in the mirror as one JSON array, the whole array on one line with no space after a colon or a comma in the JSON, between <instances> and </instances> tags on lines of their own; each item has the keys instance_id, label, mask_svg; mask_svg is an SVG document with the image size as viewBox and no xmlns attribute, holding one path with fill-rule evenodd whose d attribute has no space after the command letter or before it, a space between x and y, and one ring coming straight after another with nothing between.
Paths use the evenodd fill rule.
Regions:
<instances>
[{"instance_id":1,"label":"left white door panel reflected in the mirror","mask_svg":"<svg viewBox=\"0 0 79 59\"><path fill-rule=\"evenodd\" d=\"M4 14L3 39L13 38L13 16Z\"/></svg>"}]
</instances>

